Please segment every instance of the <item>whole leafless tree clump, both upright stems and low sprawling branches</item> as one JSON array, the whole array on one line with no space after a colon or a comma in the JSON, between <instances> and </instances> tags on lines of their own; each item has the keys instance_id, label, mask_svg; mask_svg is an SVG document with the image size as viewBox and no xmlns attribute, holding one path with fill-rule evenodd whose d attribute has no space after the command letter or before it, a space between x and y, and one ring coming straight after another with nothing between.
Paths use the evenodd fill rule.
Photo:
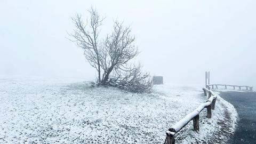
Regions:
<instances>
[{"instance_id":1,"label":"whole leafless tree clump, both upright stems and low sprawling branches","mask_svg":"<svg viewBox=\"0 0 256 144\"><path fill-rule=\"evenodd\" d=\"M90 21L84 24L81 15L73 18L73 37L78 47L84 50L85 58L98 71L98 84L117 86L132 92L147 92L153 86L148 73L141 72L141 66L129 65L139 52L134 46L135 36L123 22L114 22L114 30L104 41L99 41L99 27L102 25L97 11L91 9ZM89 23L89 25L88 25ZM101 70L102 77L101 77Z\"/></svg>"}]
</instances>

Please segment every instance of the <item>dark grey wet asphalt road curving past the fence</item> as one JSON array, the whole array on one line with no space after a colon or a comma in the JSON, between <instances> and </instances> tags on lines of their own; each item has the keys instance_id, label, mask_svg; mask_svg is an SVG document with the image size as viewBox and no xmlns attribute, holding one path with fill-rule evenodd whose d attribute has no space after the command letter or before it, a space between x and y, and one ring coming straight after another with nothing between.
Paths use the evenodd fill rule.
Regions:
<instances>
[{"instance_id":1,"label":"dark grey wet asphalt road curving past the fence","mask_svg":"<svg viewBox=\"0 0 256 144\"><path fill-rule=\"evenodd\" d=\"M256 92L221 92L237 110L237 130L229 144L256 143Z\"/></svg>"}]
</instances>

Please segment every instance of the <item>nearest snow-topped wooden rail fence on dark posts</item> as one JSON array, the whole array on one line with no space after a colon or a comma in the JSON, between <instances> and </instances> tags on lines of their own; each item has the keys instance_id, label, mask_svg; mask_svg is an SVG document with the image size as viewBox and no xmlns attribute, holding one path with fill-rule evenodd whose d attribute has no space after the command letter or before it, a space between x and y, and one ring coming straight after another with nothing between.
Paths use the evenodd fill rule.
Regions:
<instances>
[{"instance_id":1,"label":"nearest snow-topped wooden rail fence on dark posts","mask_svg":"<svg viewBox=\"0 0 256 144\"><path fill-rule=\"evenodd\" d=\"M193 120L193 126L195 131L199 131L199 114L204 108L207 108L207 118L212 117L212 109L215 108L215 102L217 99L217 94L212 92L211 90L203 87L204 95L207 96L208 93L208 100L205 103L199 105L197 109L189 113L183 119L181 119L178 123L174 124L168 131L166 131L166 138L164 143L166 144L174 144L175 137L174 135L177 134L184 126L186 126L190 121Z\"/></svg>"}]
</instances>

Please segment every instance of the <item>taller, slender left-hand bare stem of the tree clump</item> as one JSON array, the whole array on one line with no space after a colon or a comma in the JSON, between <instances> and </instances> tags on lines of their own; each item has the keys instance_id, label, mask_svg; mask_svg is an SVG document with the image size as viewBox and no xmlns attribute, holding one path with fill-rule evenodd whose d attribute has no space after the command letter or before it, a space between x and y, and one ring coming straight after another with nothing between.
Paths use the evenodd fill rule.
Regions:
<instances>
[{"instance_id":1,"label":"taller, slender left-hand bare stem of the tree clump","mask_svg":"<svg viewBox=\"0 0 256 144\"><path fill-rule=\"evenodd\" d=\"M81 19L80 14L76 14L72 18L75 29L73 34L69 34L76 42L78 47L84 50L86 60L92 67L98 71L98 82L101 81L101 66L100 66L100 55L101 47L99 46L99 27L102 25L103 18L100 17L99 13L91 8L89 10L90 20L84 23Z\"/></svg>"}]
</instances>

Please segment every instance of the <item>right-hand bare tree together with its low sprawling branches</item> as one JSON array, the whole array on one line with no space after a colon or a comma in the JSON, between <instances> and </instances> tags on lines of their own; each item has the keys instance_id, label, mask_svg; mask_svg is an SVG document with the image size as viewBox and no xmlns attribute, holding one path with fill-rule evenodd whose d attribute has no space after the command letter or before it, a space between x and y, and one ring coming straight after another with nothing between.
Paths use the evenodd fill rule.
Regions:
<instances>
[{"instance_id":1,"label":"right-hand bare tree together with its low sprawling branches","mask_svg":"<svg viewBox=\"0 0 256 144\"><path fill-rule=\"evenodd\" d=\"M141 73L141 66L130 66L127 63L139 52L134 46L135 36L130 27L115 21L114 30L107 36L104 52L101 57L101 67L104 70L102 83L118 86L132 92L146 92L153 86L148 73ZM110 75L112 74L112 75Z\"/></svg>"}]
</instances>

